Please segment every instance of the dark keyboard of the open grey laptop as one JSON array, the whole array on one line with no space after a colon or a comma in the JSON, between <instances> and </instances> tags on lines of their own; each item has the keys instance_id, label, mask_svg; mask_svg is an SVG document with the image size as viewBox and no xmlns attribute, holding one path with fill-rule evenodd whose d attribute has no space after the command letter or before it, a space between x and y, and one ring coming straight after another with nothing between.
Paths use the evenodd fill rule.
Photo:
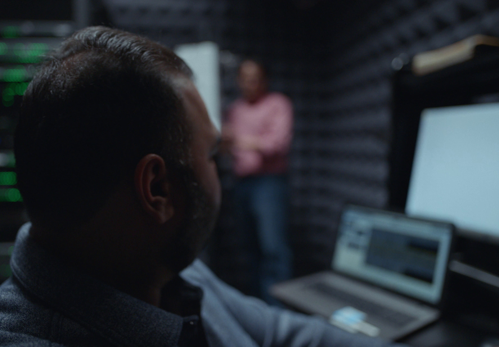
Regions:
<instances>
[{"instance_id":1,"label":"dark keyboard of the open grey laptop","mask_svg":"<svg viewBox=\"0 0 499 347\"><path fill-rule=\"evenodd\" d=\"M415 319L414 317L408 316L401 312L394 311L382 305L378 305L358 296L346 293L342 290L327 285L326 283L317 282L311 284L308 288L322 294L333 296L341 301L350 303L350 305L357 310L365 312L368 315L377 316L396 327L403 327Z\"/></svg>"}]
</instances>

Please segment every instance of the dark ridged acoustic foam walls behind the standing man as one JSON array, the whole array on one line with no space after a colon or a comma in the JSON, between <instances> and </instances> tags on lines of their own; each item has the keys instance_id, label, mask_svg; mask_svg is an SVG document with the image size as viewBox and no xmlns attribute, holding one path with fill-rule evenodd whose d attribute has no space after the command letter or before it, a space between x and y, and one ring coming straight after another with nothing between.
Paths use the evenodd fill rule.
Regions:
<instances>
[{"instance_id":1,"label":"dark ridged acoustic foam walls behind the standing man","mask_svg":"<svg viewBox=\"0 0 499 347\"><path fill-rule=\"evenodd\" d=\"M391 76L414 54L482 33L499 36L499 1L93 0L88 23L144 34L170 47L221 49L222 107L238 96L239 61L257 57L270 88L295 108L291 182L294 275L326 269L345 203L388 207ZM19 18L22 19L22 18ZM246 258L232 227L232 177L205 257L245 288Z\"/></svg>"}]
</instances>

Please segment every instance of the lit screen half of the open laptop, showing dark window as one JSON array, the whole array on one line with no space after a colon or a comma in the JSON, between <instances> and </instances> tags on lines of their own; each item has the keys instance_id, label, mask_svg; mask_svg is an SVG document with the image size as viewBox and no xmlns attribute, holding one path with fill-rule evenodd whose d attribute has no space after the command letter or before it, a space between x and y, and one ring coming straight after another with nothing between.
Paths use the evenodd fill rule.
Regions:
<instances>
[{"instance_id":1,"label":"lit screen half of the open laptop, showing dark window","mask_svg":"<svg viewBox=\"0 0 499 347\"><path fill-rule=\"evenodd\" d=\"M383 210L344 209L332 262L339 271L438 304L451 250L449 223Z\"/></svg>"}]
</instances>

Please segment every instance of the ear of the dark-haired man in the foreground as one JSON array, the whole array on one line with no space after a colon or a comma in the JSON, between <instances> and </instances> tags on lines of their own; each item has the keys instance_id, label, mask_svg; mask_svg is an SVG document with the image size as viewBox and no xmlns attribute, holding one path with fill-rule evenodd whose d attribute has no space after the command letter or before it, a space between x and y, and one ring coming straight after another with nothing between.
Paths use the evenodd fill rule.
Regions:
<instances>
[{"instance_id":1,"label":"ear of the dark-haired man in the foreground","mask_svg":"<svg viewBox=\"0 0 499 347\"><path fill-rule=\"evenodd\" d=\"M142 207L158 224L173 217L172 186L163 158L156 154L142 158L135 168L134 183Z\"/></svg>"}]
</instances>

